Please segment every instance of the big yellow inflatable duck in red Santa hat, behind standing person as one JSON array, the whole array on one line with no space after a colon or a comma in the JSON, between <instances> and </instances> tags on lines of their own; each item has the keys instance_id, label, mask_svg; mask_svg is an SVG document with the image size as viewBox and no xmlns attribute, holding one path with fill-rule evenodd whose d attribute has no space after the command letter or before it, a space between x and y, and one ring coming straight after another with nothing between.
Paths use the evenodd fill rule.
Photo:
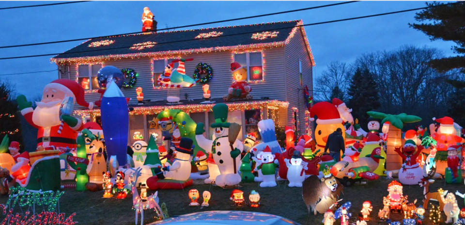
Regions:
<instances>
[{"instance_id":1,"label":"big yellow inflatable duck in red Santa hat, behind standing person","mask_svg":"<svg viewBox=\"0 0 465 225\"><path fill-rule=\"evenodd\" d=\"M314 120L314 116L318 116L316 120L315 141L316 150L320 150L320 154L325 151L326 141L329 134L341 128L342 137L345 143L344 126L342 126L342 119L339 115L337 108L329 102L318 102L310 109L310 120ZM342 155L342 152L341 152Z\"/></svg>"}]
</instances>

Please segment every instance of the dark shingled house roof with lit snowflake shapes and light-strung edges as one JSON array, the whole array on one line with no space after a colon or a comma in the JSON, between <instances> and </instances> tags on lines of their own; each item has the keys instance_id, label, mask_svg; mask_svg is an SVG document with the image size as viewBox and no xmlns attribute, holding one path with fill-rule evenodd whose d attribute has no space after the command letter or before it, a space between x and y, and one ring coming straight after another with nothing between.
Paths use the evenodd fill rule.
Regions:
<instances>
[{"instance_id":1,"label":"dark shingled house roof with lit snowflake shapes and light-strung edges","mask_svg":"<svg viewBox=\"0 0 465 225\"><path fill-rule=\"evenodd\" d=\"M89 39L75 48L71 48L53 57L51 61L55 63L98 62L109 59L140 58L168 54L279 47L288 44L298 29L301 29L305 36L303 27L294 27L298 25L302 25L302 20ZM262 40L252 38L253 33L260 33L263 31L275 32L275 34L276 32L279 33L277 33L275 37ZM201 33L206 34L210 32L218 32L221 33L221 35L208 39L196 38ZM304 39L308 48L310 60L312 64L314 64L307 37L305 36ZM152 42L152 44L155 42L157 44L153 45L151 48L130 48L138 44L144 45L143 43L145 43L145 45L151 44L149 42ZM103 45L98 46L102 43Z\"/></svg>"}]
</instances>

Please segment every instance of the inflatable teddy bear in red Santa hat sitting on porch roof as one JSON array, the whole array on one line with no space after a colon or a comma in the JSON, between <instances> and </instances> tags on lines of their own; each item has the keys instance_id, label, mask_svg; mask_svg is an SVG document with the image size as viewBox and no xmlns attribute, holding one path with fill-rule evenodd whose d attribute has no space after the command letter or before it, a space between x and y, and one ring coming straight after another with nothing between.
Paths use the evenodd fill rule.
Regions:
<instances>
[{"instance_id":1,"label":"inflatable teddy bear in red Santa hat sitting on porch roof","mask_svg":"<svg viewBox=\"0 0 465 225\"><path fill-rule=\"evenodd\" d=\"M252 100L252 95L250 94L252 88L247 83L247 68L237 62L233 62L231 64L231 72L233 72L234 81L229 87L228 95L223 96L223 100L229 101L233 98Z\"/></svg>"}]
</instances>

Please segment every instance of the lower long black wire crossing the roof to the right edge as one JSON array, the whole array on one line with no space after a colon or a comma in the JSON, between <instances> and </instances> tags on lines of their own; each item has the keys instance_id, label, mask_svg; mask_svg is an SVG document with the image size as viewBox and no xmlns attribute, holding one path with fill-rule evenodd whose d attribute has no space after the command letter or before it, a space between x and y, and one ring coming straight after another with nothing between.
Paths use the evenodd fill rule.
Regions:
<instances>
[{"instance_id":1,"label":"lower long black wire crossing the roof to the right edge","mask_svg":"<svg viewBox=\"0 0 465 225\"><path fill-rule=\"evenodd\" d=\"M289 29L289 28L294 28L294 27L306 27L306 26L313 26L313 25L320 25L320 24L327 24L327 23L335 23L335 22L348 21L348 20L354 20L354 19L369 18L369 17L375 17L375 16L386 16L386 15L392 15L392 14L397 14L397 13L405 13L405 12L410 12L410 11L417 11L417 10L422 10L422 9L429 9L429 8L435 8L435 7L458 4L458 3L462 3L462 2L453 2L453 3L444 4L444 5L428 6L428 7L407 9L407 10L401 10L401 11L395 11L395 12L389 12L389 13L374 14L374 15L369 15L369 16L358 16L358 17L352 17L352 18L337 19L337 20L318 22L318 23L309 23L309 24L290 26L290 27L284 27L284 28L279 28L279 29L269 29L269 30L261 30L261 31L254 31L254 32L243 32L243 33L227 34L227 35L221 35L221 36L217 36L217 37L205 37L205 38L198 38L198 39L187 39L187 40L179 40L179 41L162 42L162 43L157 43L156 45L172 44L172 43L186 42L186 41L197 41L197 40L210 39L210 38L222 38L222 37L235 36L235 35L248 34L248 33L255 33L255 32L277 31L277 30ZM146 45L151 45L151 44L145 44L145 45L140 45L140 46L146 46ZM5 57L5 58L0 58L0 60L21 59L21 58L31 58L31 57L41 57L41 56L51 56L51 55L66 55L66 54L75 54L75 53L84 53L84 52L93 52L93 51L105 51L105 50L130 48L130 47L132 47L132 46L125 46L125 47L118 47L118 48L107 48L107 49L94 49L94 50L76 51L76 52L63 52L63 53L41 54L41 55Z\"/></svg>"}]
</instances>

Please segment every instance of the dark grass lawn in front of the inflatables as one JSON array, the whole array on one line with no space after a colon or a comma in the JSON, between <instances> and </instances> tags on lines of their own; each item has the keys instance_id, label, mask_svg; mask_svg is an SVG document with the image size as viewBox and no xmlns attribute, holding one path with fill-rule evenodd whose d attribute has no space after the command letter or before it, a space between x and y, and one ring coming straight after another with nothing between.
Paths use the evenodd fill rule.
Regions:
<instances>
[{"instance_id":1,"label":"dark grass lawn in front of the inflatables","mask_svg":"<svg viewBox=\"0 0 465 225\"><path fill-rule=\"evenodd\" d=\"M343 200L341 203L346 201L352 202L353 207L349 210L353 214L351 223L355 224L362 202L369 200L372 202L373 211L368 225L386 224L386 222L380 221L377 215L379 209L383 207L383 196L387 196L387 185L390 181L391 180L387 180L385 177L381 177L379 180L370 181L368 184L355 184L351 187L344 188ZM233 206L232 201L229 199L233 189L222 189L214 185L201 183L200 180L196 180L193 186L187 187L184 190L159 190L159 205L165 202L170 216L209 210L246 210L279 215L302 225L319 225L323 219L323 215L321 214L315 216L313 213L308 213L307 207L302 199L301 188L289 188L285 185L284 181L279 182L279 186L275 188L260 188L258 183L241 184L239 189L244 191L244 197L247 202L248 193L252 190L260 193L261 206L259 208L251 208L248 206L237 208ZM465 192L463 183L445 185L444 180L437 180L431 185L430 190L435 191L438 188L449 190L449 192L452 193L455 193L456 190L462 193ZM201 193L199 203L202 203L203 191L210 191L212 193L212 198L209 202L210 206L204 207L203 209L201 209L201 207L188 206L190 200L187 197L187 192L190 189L197 189ZM155 192L149 191L149 194L151 193ZM417 205L422 204L423 189L418 185L404 186L403 193L404 195L408 195L409 201L412 202L418 199ZM66 216L76 212L77 215L74 217L74 221L78 221L79 224L84 225L134 224L135 211L132 209L132 194L129 194L124 200L118 200L116 198L104 199L102 195L103 192L77 192L74 189L65 189L65 193L60 200L60 210L61 212L65 212ZM6 203L7 199L8 196L1 196L0 203ZM434 201L432 202L434 203ZM464 199L457 196L457 202L460 208L464 207ZM42 208L39 207L39 210L40 209ZM19 209L15 209L15 212L20 211ZM154 216L155 212L146 210L145 223L148 224L153 222ZM431 224L427 219L428 210L425 217L423 224ZM3 220L4 216L0 216L0 218ZM442 214L441 218L445 220L446 217ZM403 216L399 213L391 214L392 221L402 222L402 219ZM335 224L339 223L340 222L337 221Z\"/></svg>"}]
</instances>

